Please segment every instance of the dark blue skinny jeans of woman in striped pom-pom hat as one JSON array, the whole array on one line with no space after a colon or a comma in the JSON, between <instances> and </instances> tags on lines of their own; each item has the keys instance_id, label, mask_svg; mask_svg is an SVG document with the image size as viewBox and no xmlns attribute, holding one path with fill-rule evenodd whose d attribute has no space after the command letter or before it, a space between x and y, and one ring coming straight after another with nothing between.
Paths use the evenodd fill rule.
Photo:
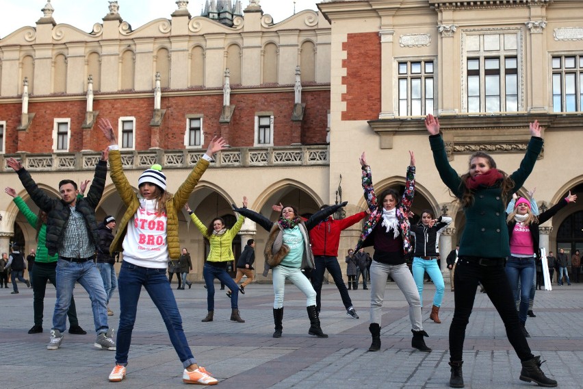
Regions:
<instances>
[{"instance_id":1,"label":"dark blue skinny jeans of woman in striped pom-pom hat","mask_svg":"<svg viewBox=\"0 0 583 389\"><path fill-rule=\"evenodd\" d=\"M178 354L182 366L187 368L191 364L196 364L196 360L188 347L186 336L182 328L182 317L174 299L172 288L166 278L165 268L144 268L122 262L119 276L120 293L120 328L116 340L116 364L127 365L127 355L131 344L131 332L135 323L135 313L138 311L138 300L142 286L150 295L150 298L158 308L170 342ZM146 323L147 325L147 323Z\"/></svg>"}]
</instances>

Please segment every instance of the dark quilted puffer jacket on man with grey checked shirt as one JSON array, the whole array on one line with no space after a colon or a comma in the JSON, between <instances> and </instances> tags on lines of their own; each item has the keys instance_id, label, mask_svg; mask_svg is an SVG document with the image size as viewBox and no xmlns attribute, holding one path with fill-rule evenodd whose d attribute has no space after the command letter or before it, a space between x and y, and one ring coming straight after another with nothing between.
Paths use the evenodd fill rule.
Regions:
<instances>
[{"instance_id":1,"label":"dark quilted puffer jacket on man with grey checked shirt","mask_svg":"<svg viewBox=\"0 0 583 389\"><path fill-rule=\"evenodd\" d=\"M36 182L32 179L30 173L28 173L25 168L21 168L16 173L18 173L18 178L21 179L21 182L32 201L34 201L38 208L49 214L49 217L47 218L46 246L49 250L49 255L56 255L63 240L64 227L69 220L70 208L61 199L52 199L45 194L42 189L38 188L38 185L36 185ZM99 250L97 247L99 234L97 233L95 208L97 208L99 201L101 201L106 177L107 162L99 160L99 163L95 166L95 174L87 196L82 199L77 197L77 202L75 203L75 209L83 215L88 226L89 238L97 250Z\"/></svg>"}]
</instances>

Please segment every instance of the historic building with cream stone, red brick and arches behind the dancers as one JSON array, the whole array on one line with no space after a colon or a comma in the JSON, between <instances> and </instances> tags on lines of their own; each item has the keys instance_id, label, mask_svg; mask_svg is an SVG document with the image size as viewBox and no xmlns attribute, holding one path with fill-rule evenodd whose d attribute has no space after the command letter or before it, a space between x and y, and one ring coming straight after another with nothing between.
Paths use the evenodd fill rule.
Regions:
<instances>
[{"instance_id":1,"label":"historic building with cream stone, red brick and arches behind the dancers","mask_svg":"<svg viewBox=\"0 0 583 389\"><path fill-rule=\"evenodd\" d=\"M49 1L36 27L0 37L0 177L25 199L5 158L21 158L56 196L62 177L91 178L106 146L96 126L102 117L117 126L129 180L158 162L170 191L212 136L228 140L231 149L190 199L203 221L232 220L229 205L244 195L273 219L279 202L311 213L343 200L352 214L365 207L359 155L367 153L380 192L404 184L413 150L413 210L454 218L441 238L447 253L465 221L433 166L427 113L439 115L459 173L479 149L511 173L528 123L538 119L545 149L521 191L536 187L543 208L569 190L582 192L579 1L324 1L320 12L276 24L256 0L210 1L206 16L194 17L188 1L177 1L170 19L137 29L109 3L90 33L57 24ZM34 247L33 229L10 200L0 197L0 251L13 239ZM98 216L122 212L108 180ZM545 226L547 249L583 249L580 203ZM204 240L185 214L180 227L183 246L198 258L192 277L200 279ZM358 226L344 233L341 257L358 234ZM241 242L250 236L261 269L266 233L246 222Z\"/></svg>"}]
</instances>

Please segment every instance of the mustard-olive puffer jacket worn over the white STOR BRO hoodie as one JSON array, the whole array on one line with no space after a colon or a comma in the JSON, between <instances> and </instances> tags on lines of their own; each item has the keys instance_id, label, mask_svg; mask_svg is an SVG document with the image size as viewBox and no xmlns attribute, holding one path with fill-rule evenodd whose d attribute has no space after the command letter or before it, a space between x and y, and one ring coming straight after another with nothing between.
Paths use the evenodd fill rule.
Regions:
<instances>
[{"instance_id":1,"label":"mustard-olive puffer jacket worn over the white STOR BRO hoodie","mask_svg":"<svg viewBox=\"0 0 583 389\"><path fill-rule=\"evenodd\" d=\"M127 232L127 223L131 221L135 212L138 211L140 200L138 200L138 196L133 191L129 181L127 181L127 177L123 173L119 150L109 150L109 167L111 168L109 175L112 177L112 181L114 181L122 202L127 207L125 214L123 214L118 223L118 233L112 245L109 246L109 252L113 253L114 251L123 251L122 244ZM166 202L166 215L168 216L166 241L168 242L168 254L173 260L178 260L181 254L180 239L178 236L178 212L186 201L188 201L188 197L192 193L192 190L194 190L196 184L198 184L200 177L207 170L207 167L209 167L209 162L200 158L177 192Z\"/></svg>"}]
</instances>

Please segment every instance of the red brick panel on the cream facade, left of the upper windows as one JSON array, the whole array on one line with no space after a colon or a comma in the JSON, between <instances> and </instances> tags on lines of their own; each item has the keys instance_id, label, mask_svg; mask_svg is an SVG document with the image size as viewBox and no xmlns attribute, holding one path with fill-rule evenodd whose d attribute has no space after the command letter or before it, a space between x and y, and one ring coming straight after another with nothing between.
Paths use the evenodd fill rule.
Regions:
<instances>
[{"instance_id":1,"label":"red brick panel on the cream facade, left of the upper windows","mask_svg":"<svg viewBox=\"0 0 583 389\"><path fill-rule=\"evenodd\" d=\"M343 121L363 121L378 118L380 112L380 38L377 32L348 34L342 44L346 51L346 76L342 84L346 93Z\"/></svg>"}]
</instances>

